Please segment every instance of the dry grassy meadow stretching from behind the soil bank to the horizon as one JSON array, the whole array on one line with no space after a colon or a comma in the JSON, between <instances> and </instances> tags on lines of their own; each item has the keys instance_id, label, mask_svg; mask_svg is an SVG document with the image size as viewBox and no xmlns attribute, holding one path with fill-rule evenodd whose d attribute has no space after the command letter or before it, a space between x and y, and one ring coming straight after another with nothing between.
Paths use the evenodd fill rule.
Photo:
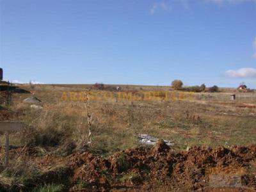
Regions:
<instances>
[{"instance_id":1,"label":"dry grassy meadow stretching from behind the soil bank to the horizon","mask_svg":"<svg viewBox=\"0 0 256 192\"><path fill-rule=\"evenodd\" d=\"M19 112L15 118L26 123L29 136L13 134L11 141L15 145L52 147L53 152L60 153L61 147L64 150L70 143L76 146L74 150L83 150L88 142L87 109L79 93L90 92L91 149L102 155L136 147L139 143L134 134L173 140L175 148L180 149L193 145L214 147L256 142L255 92L236 93L237 99L230 100L234 90L179 94L168 86L121 85L122 90L118 92L115 87L95 90L93 86L83 84L21 86L42 100L39 105L43 109L33 109L29 107L31 104L22 103L31 95L13 94L12 109ZM140 95L127 96L148 92L153 93L150 99ZM159 92L169 95L165 97Z\"/></svg>"}]
</instances>

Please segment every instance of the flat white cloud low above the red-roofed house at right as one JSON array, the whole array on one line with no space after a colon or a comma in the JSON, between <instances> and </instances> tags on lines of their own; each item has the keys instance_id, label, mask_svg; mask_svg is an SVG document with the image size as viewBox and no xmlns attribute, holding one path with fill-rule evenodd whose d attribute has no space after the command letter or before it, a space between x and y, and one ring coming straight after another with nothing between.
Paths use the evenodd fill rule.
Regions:
<instances>
[{"instance_id":1,"label":"flat white cloud low above the red-roofed house at right","mask_svg":"<svg viewBox=\"0 0 256 192\"><path fill-rule=\"evenodd\" d=\"M227 70L228 77L256 77L256 68L239 68L238 70Z\"/></svg>"}]
</instances>

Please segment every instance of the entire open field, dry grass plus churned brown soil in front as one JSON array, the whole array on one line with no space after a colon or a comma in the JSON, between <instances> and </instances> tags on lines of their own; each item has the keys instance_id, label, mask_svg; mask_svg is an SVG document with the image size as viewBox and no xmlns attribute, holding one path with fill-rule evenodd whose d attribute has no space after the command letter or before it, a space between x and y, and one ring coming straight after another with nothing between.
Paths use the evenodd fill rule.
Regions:
<instances>
[{"instance_id":1,"label":"entire open field, dry grass plus churned brown soil in front","mask_svg":"<svg viewBox=\"0 0 256 192\"><path fill-rule=\"evenodd\" d=\"M42 100L36 105L43 108L22 102L31 93L13 93L11 111L1 109L1 120L24 122L26 129L10 135L10 168L1 165L0 147L0 191L32 191L52 183L45 188L207 191L206 166L243 167L239 190L256 189L256 92L184 93L168 86L129 85L117 91L116 86L20 84ZM89 94L90 108L80 93ZM230 100L232 93L236 100ZM149 148L136 134L175 145Z\"/></svg>"}]
</instances>

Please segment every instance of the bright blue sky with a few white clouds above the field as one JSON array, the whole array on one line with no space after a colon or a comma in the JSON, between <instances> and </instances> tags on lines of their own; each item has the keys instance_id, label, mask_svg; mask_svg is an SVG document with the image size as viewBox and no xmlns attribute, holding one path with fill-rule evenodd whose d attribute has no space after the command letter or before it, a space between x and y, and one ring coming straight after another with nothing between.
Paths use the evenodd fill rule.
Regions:
<instances>
[{"instance_id":1,"label":"bright blue sky with a few white clouds above the field","mask_svg":"<svg viewBox=\"0 0 256 192\"><path fill-rule=\"evenodd\" d=\"M4 79L256 88L256 0L0 0Z\"/></svg>"}]
</instances>

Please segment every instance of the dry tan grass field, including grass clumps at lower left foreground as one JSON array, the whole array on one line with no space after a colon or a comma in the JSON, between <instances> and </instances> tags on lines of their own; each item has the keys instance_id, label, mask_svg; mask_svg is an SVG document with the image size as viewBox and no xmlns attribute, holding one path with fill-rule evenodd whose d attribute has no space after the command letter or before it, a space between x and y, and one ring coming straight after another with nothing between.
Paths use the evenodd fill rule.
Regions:
<instances>
[{"instance_id":1,"label":"dry tan grass field, including grass clumps at lower left foreground","mask_svg":"<svg viewBox=\"0 0 256 192\"><path fill-rule=\"evenodd\" d=\"M120 90L116 90L116 86L120 86ZM43 108L31 108L31 104L22 102L31 97L31 93L13 93L11 111L1 110L1 120L24 122L25 130L10 134L11 159L7 169L1 165L4 162L4 136L0 136L0 191L115 191L147 186L145 182L133 181L134 178L141 180L133 172L128 176L119 172L121 181L118 182L111 179L108 184L106 181L95 182L95 188L85 177L74 176L80 178L75 179L76 182L73 176L72 181L63 181L67 179L63 175L73 174L67 167L67 157L75 158L74 154L85 152L88 156L93 154L103 159L113 159L119 154L118 158L122 160L125 150L138 147L149 150L138 142L136 134L172 140L175 143L172 150L181 153L195 146L227 149L233 145L256 143L256 92L221 89L220 93L184 93L174 92L168 86L116 86L105 85L99 90L84 84L20 84L20 88L42 100L36 105ZM79 95L84 93L88 94L90 108ZM152 93L150 99L145 96L147 93ZM236 93L236 100L230 100L233 93ZM88 145L88 109L91 147ZM255 163L253 166L251 161L250 172L255 174ZM140 177L147 180L145 175ZM46 182L47 178L52 183ZM129 184L127 180L130 180ZM122 188L120 183L130 187ZM166 186L161 182L154 185L157 188ZM141 190L150 191L156 186L141 187ZM191 190L205 187L188 186ZM253 184L249 187L253 189ZM164 190L168 189L171 188L164 187Z\"/></svg>"}]
</instances>

